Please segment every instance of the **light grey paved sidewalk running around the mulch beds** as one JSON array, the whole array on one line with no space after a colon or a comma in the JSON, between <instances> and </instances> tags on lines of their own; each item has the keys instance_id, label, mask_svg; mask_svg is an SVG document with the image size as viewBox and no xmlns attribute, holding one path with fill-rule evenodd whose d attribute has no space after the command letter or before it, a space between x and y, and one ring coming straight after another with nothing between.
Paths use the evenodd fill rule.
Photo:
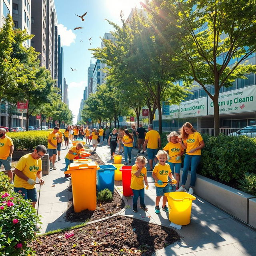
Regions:
<instances>
[{"instance_id":1,"label":"light grey paved sidewalk running around the mulch beds","mask_svg":"<svg viewBox=\"0 0 256 256\"><path fill-rule=\"evenodd\" d=\"M92 147L90 145L90 147ZM72 192L66 189L69 187L70 178L64 178L64 157L68 150L61 150L61 160L56 162L57 170L50 171L45 176L45 185L41 187L39 212L41 218L42 233L58 228L74 226L77 223L70 223L64 220L68 199L72 197ZM136 159L137 149L132 151L132 162ZM105 164L113 163L110 160L110 148L104 144L98 146L96 153L102 158ZM124 159L123 161L124 162ZM152 173L148 172L148 181L152 182ZM52 185L55 185L52 187ZM122 196L122 182L115 182L116 189ZM196 195L195 195L196 196ZM154 224L169 226L168 214L161 210L160 214L155 214L155 188L150 184L145 190L145 204L148 212L144 212L138 207L138 212L132 211L132 197L127 198L130 206L121 213L124 216L138 218ZM161 201L162 202L162 201ZM162 206L160 202L160 208ZM139 206L139 204L138 204ZM36 205L37 207L37 205ZM239 206L238 206L239 207ZM205 200L196 196L192 203L191 223L182 226L178 233L183 237L180 242L158 250L154 256L242 256L255 255L256 231L235 220L229 214L212 206Z\"/></svg>"}]
</instances>

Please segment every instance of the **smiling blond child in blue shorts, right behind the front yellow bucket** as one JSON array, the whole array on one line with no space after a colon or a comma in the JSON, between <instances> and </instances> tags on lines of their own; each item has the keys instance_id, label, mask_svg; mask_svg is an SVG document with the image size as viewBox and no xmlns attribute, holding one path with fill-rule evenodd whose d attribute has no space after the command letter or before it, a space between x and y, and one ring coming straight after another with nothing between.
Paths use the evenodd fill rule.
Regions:
<instances>
[{"instance_id":1,"label":"smiling blond child in blue shorts, right behind the front yellow bucket","mask_svg":"<svg viewBox=\"0 0 256 256\"><path fill-rule=\"evenodd\" d=\"M170 190L170 186L168 183L168 176L171 178L172 184L176 184L176 180L174 179L172 175L172 171L170 168L170 165L166 163L168 154L164 150L159 150L156 154L156 157L159 161L158 164L155 165L152 178L155 179L155 185L156 185L156 207L155 207L155 213L160 213L159 208L159 202L161 197L163 196L163 205L162 210L165 212L169 212L168 207L166 206L167 197L164 195L164 193L168 193Z\"/></svg>"}]
</instances>

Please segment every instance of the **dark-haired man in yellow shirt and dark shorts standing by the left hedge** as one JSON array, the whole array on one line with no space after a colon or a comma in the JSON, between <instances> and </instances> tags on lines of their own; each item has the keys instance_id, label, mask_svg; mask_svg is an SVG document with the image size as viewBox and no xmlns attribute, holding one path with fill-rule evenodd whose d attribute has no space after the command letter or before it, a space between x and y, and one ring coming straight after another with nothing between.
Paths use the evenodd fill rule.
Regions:
<instances>
[{"instance_id":1,"label":"dark-haired man in yellow shirt and dark shorts standing by the left hedge","mask_svg":"<svg viewBox=\"0 0 256 256\"><path fill-rule=\"evenodd\" d=\"M56 170L55 160L56 160L56 155L57 155L57 143L58 143L58 131L60 128L58 126L55 126L53 128L53 131L50 132L48 135L48 154L49 154L49 159L50 159L50 168L53 170Z\"/></svg>"}]
</instances>

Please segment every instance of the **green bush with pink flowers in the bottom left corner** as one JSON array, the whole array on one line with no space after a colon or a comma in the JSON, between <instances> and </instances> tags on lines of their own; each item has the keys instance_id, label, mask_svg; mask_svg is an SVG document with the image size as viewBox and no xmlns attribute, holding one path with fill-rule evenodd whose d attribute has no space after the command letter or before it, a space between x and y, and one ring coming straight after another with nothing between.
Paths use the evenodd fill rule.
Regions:
<instances>
[{"instance_id":1,"label":"green bush with pink flowers in the bottom left corner","mask_svg":"<svg viewBox=\"0 0 256 256\"><path fill-rule=\"evenodd\" d=\"M36 210L20 194L0 194L0 256L32 256L28 243L36 238Z\"/></svg>"}]
</instances>

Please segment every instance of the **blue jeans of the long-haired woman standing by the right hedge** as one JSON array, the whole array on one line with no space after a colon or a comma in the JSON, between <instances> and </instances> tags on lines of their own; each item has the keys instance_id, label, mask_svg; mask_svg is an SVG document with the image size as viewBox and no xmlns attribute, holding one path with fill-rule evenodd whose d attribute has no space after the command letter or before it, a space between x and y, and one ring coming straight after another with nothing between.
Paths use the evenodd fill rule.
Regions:
<instances>
[{"instance_id":1,"label":"blue jeans of the long-haired woman standing by the right hedge","mask_svg":"<svg viewBox=\"0 0 256 256\"><path fill-rule=\"evenodd\" d=\"M199 155L188 155L185 154L184 158L184 166L183 166L183 174L181 184L185 185L188 178L188 169L191 164L191 179L190 186L195 186L196 183L196 168L200 162L201 156Z\"/></svg>"}]
</instances>

